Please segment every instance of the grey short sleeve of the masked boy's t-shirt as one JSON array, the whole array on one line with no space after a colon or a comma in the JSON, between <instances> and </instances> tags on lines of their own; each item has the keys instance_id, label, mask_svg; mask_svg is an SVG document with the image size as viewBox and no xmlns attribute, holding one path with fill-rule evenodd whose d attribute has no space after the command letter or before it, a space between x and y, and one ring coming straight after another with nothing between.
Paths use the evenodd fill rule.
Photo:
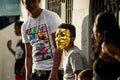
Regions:
<instances>
[{"instance_id":1,"label":"grey short sleeve of the masked boy's t-shirt","mask_svg":"<svg viewBox=\"0 0 120 80\"><path fill-rule=\"evenodd\" d=\"M73 72L84 69L83 57L80 53L71 54L69 59Z\"/></svg>"}]
</instances>

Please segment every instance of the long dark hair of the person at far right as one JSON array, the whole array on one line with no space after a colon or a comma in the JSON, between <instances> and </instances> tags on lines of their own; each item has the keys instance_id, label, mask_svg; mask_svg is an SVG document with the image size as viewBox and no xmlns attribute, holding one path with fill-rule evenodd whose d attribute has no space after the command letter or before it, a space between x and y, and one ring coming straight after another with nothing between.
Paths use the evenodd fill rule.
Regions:
<instances>
[{"instance_id":1,"label":"long dark hair of the person at far right","mask_svg":"<svg viewBox=\"0 0 120 80\"><path fill-rule=\"evenodd\" d=\"M120 28L116 21L116 17L111 12L100 12L94 21L100 33L99 41L94 43L93 59L97 59L101 53L101 45L103 42L113 43L120 47Z\"/></svg>"}]
</instances>

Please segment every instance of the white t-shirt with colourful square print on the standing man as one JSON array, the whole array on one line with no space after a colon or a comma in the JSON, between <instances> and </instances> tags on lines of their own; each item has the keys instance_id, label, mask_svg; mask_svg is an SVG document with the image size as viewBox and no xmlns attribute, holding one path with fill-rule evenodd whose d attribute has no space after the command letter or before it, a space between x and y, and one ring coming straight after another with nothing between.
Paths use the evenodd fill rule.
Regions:
<instances>
[{"instance_id":1,"label":"white t-shirt with colourful square print on the standing man","mask_svg":"<svg viewBox=\"0 0 120 80\"><path fill-rule=\"evenodd\" d=\"M56 32L61 23L62 20L56 13L45 9L37 18L28 17L23 23L22 41L32 46L33 69L52 69L55 51L52 33Z\"/></svg>"}]
</instances>

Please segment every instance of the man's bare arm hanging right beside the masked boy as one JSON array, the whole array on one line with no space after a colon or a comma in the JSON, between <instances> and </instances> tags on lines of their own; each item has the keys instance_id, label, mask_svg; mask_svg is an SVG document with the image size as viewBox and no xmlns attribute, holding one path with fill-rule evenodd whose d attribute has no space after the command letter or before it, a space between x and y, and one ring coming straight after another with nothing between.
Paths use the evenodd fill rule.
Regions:
<instances>
[{"instance_id":1,"label":"man's bare arm hanging right beside the masked boy","mask_svg":"<svg viewBox=\"0 0 120 80\"><path fill-rule=\"evenodd\" d=\"M55 33L52 34L52 39L53 39L54 46L56 47ZM57 73L61 63L61 59L62 59L62 50L56 50L53 57L53 61L54 61L53 67L48 80L58 80Z\"/></svg>"}]
</instances>

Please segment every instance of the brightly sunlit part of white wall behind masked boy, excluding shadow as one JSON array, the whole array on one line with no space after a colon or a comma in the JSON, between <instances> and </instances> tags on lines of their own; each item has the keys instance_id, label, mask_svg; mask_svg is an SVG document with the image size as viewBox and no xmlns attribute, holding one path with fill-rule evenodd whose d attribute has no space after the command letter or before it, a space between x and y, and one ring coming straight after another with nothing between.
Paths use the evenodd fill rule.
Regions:
<instances>
[{"instance_id":1,"label":"brightly sunlit part of white wall behind masked boy, excluding shadow","mask_svg":"<svg viewBox=\"0 0 120 80\"><path fill-rule=\"evenodd\" d=\"M79 4L78 4L79 3ZM89 14L89 0L73 0L73 19L72 23L76 26L76 44L81 48L82 23ZM78 41L79 40L79 41Z\"/></svg>"}]
</instances>

